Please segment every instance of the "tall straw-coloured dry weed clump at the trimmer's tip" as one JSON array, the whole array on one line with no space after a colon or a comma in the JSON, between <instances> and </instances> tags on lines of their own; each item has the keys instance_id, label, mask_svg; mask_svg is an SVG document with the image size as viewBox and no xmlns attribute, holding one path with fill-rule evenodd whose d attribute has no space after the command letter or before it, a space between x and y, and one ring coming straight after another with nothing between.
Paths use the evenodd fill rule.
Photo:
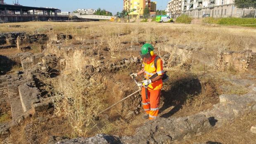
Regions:
<instances>
[{"instance_id":1,"label":"tall straw-coloured dry weed clump at the trimmer's tip","mask_svg":"<svg viewBox=\"0 0 256 144\"><path fill-rule=\"evenodd\" d=\"M88 136L88 131L97 127L93 116L97 116L104 106L104 84L87 80L77 73L44 83L45 90L55 97L55 115L67 118L76 135Z\"/></svg>"}]
</instances>

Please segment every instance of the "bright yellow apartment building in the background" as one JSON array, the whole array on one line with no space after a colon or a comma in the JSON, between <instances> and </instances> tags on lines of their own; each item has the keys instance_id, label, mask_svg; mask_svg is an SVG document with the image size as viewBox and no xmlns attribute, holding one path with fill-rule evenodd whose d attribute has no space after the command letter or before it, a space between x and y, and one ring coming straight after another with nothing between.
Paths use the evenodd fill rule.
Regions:
<instances>
[{"instance_id":1,"label":"bright yellow apartment building in the background","mask_svg":"<svg viewBox=\"0 0 256 144\"><path fill-rule=\"evenodd\" d=\"M134 12L130 12L130 19L138 19L143 16L145 7L150 11L150 0L123 0L123 9L129 11L131 9L137 9Z\"/></svg>"}]
</instances>

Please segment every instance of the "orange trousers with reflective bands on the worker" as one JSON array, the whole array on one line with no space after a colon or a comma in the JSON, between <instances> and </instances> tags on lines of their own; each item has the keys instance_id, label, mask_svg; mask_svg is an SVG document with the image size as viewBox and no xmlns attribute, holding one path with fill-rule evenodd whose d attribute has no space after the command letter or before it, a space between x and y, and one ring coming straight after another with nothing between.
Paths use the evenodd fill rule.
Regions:
<instances>
[{"instance_id":1,"label":"orange trousers with reflective bands on the worker","mask_svg":"<svg viewBox=\"0 0 256 144\"><path fill-rule=\"evenodd\" d=\"M142 87L142 106L149 114L149 120L156 119L159 111L161 90L148 90Z\"/></svg>"}]
</instances>

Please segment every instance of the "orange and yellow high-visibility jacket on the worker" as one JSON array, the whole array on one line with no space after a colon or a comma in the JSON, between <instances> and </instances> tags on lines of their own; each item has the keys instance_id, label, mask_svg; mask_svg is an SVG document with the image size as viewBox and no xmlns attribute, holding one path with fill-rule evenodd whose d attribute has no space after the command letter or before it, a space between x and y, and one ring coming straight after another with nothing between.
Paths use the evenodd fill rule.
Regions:
<instances>
[{"instance_id":1,"label":"orange and yellow high-visibility jacket on the worker","mask_svg":"<svg viewBox=\"0 0 256 144\"><path fill-rule=\"evenodd\" d=\"M156 58L156 55L152 57L152 59L148 62L143 62L142 67L144 68L144 76L146 79L149 79L151 76L153 76L155 73L158 74L158 76L164 75L163 70L163 61L161 59L158 59L156 61L156 67L154 66L154 59ZM150 85L148 85L149 90L161 90L163 86L162 79L157 80L155 82L152 82Z\"/></svg>"}]
</instances>

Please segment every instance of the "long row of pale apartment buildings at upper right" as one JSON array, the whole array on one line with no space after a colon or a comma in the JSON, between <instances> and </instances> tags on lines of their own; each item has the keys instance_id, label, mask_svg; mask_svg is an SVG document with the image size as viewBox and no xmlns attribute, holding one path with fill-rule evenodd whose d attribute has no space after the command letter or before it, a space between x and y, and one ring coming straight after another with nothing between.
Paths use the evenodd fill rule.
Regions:
<instances>
[{"instance_id":1,"label":"long row of pale apartment buildings at upper right","mask_svg":"<svg viewBox=\"0 0 256 144\"><path fill-rule=\"evenodd\" d=\"M167 14L177 18L180 14L187 14L193 18L201 18L204 14L210 17L242 17L256 13L255 9L239 9L233 0L171 0L166 7Z\"/></svg>"}]
</instances>

